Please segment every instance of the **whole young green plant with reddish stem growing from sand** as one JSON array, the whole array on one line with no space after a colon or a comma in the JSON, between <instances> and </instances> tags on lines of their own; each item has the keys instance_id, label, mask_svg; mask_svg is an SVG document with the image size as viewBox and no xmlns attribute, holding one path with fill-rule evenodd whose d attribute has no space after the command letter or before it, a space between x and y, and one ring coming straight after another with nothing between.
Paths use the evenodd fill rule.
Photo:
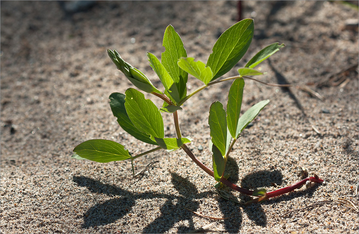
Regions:
<instances>
[{"instance_id":1,"label":"whole young green plant with reddish stem growing from sand","mask_svg":"<svg viewBox=\"0 0 359 234\"><path fill-rule=\"evenodd\" d=\"M228 28L214 44L213 53L209 55L208 61L205 64L201 61L195 61L194 58L187 57L187 52L183 47L180 36L169 25L164 32L163 46L165 51L161 54L161 61L155 55L147 52L150 66L164 86L163 92L154 87L151 81L140 70L125 62L116 50L107 50L109 57L115 63L117 69L135 87L141 91L151 93L164 101L163 106L158 108L151 100L145 99L144 94L135 88L128 88L125 94L112 93L109 96L112 113L117 117L117 122L123 130L140 141L157 147L132 156L125 149L125 146L120 143L106 139L93 139L76 146L74 148L75 154L72 157L96 162L131 160L132 172L134 173L133 160L138 157L160 149L173 151L181 148L201 169L210 176L213 176L217 182L223 183L243 194L258 197L247 202L246 205L288 193L296 188L300 188L308 181L322 183L323 180L315 175L289 187L267 193L264 188L251 191L238 187L229 182L227 180L228 176L224 174L229 153L234 143L240 137L243 129L269 103L269 100L260 101L240 116L244 88L243 78L250 78L248 77L249 75L264 74L260 70L256 70L255 67L284 46L284 44L279 45L278 42L273 43L259 51L244 67L239 68L239 75L218 79L229 72L246 53L252 41L253 31L253 19L244 19ZM189 94L187 94L186 88L188 74L204 83ZM227 111L224 110L223 104L219 101L213 102L209 109L208 123L213 159L213 170L211 170L202 164L187 147L186 143L191 142L192 139L182 137L178 121L178 111L182 110L181 106L183 103L196 93L211 85L229 80L234 81L228 92ZM173 115L176 138L164 137L161 112ZM218 187L218 184L216 186Z\"/></svg>"}]
</instances>

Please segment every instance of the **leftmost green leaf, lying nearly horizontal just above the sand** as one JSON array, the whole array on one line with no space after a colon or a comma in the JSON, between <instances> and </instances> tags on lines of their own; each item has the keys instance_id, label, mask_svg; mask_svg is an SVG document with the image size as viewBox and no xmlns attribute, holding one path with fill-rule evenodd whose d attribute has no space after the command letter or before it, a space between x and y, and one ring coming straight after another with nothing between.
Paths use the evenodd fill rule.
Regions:
<instances>
[{"instance_id":1,"label":"leftmost green leaf, lying nearly horizontal just above the sand","mask_svg":"<svg viewBox=\"0 0 359 234\"><path fill-rule=\"evenodd\" d=\"M132 158L122 144L104 139L82 142L73 151L80 157L95 162L112 162Z\"/></svg>"}]
</instances>

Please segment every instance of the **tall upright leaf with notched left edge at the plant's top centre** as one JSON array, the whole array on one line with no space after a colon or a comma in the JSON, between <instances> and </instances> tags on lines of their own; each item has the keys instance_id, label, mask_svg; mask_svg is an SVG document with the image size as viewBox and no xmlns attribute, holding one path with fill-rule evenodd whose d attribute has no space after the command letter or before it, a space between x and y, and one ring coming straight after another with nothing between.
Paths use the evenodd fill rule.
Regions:
<instances>
[{"instance_id":1,"label":"tall upright leaf with notched left edge at the plant's top centre","mask_svg":"<svg viewBox=\"0 0 359 234\"><path fill-rule=\"evenodd\" d=\"M181 37L174 31L171 24L164 32L162 46L165 47L165 51L161 54L161 63L176 83L180 98L184 98L187 95L188 73L180 69L177 61L181 57L187 57L187 52L183 47Z\"/></svg>"}]
</instances>

